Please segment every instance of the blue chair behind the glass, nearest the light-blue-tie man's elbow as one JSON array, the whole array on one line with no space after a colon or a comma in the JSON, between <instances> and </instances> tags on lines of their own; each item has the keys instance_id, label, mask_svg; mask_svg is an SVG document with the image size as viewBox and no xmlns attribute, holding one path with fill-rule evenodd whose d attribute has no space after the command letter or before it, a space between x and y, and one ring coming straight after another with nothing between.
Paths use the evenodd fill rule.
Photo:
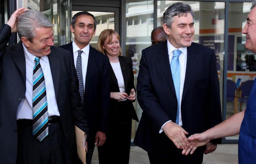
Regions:
<instances>
[{"instance_id":1,"label":"blue chair behind the glass, nearest the light-blue-tie man's elbow","mask_svg":"<svg viewBox=\"0 0 256 164\"><path fill-rule=\"evenodd\" d=\"M234 113L237 113L236 83L233 80L227 80L227 102L234 102Z\"/></svg>"}]
</instances>

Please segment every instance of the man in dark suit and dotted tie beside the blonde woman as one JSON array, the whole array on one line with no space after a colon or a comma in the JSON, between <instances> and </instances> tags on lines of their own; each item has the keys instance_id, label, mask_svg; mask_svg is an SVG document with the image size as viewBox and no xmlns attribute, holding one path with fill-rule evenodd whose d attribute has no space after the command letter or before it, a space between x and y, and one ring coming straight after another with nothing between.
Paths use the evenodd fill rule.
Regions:
<instances>
[{"instance_id":1,"label":"man in dark suit and dotted tie beside the blonde woman","mask_svg":"<svg viewBox=\"0 0 256 164\"><path fill-rule=\"evenodd\" d=\"M70 30L74 33L74 41L61 47L70 51L80 79L80 96L90 129L86 153L86 163L90 164L94 146L102 146L106 140L110 103L110 64L108 57L89 45L96 32L96 19L92 14L76 13L71 20Z\"/></svg>"}]
</instances>

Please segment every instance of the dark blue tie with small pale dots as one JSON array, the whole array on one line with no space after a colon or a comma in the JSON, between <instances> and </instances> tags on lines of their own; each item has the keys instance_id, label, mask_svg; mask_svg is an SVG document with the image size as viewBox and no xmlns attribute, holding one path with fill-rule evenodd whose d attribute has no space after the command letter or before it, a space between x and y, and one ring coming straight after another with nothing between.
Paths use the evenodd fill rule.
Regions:
<instances>
[{"instance_id":1,"label":"dark blue tie with small pale dots","mask_svg":"<svg viewBox=\"0 0 256 164\"><path fill-rule=\"evenodd\" d=\"M82 72L82 50L78 50L78 57L76 59L76 74L79 80L79 93L84 105L84 83L83 83L83 72Z\"/></svg>"}]
</instances>

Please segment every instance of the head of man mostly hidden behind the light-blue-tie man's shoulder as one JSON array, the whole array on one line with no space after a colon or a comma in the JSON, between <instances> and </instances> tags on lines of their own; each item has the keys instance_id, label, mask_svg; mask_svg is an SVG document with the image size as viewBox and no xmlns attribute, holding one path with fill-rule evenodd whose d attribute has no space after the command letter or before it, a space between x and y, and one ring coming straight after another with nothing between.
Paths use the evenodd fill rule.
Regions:
<instances>
[{"instance_id":1,"label":"head of man mostly hidden behind the light-blue-tie man's shoulder","mask_svg":"<svg viewBox=\"0 0 256 164\"><path fill-rule=\"evenodd\" d=\"M167 35L164 32L164 28L162 26L158 26L152 30L152 32L151 32L152 45L161 43L166 40L167 40Z\"/></svg>"}]
</instances>

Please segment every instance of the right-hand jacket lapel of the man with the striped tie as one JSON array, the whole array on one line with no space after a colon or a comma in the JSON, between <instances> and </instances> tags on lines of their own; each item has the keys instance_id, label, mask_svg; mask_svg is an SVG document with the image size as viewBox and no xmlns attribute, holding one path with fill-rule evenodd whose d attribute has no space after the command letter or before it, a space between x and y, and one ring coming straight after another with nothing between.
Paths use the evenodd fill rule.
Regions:
<instances>
[{"instance_id":1,"label":"right-hand jacket lapel of the man with the striped tie","mask_svg":"<svg viewBox=\"0 0 256 164\"><path fill-rule=\"evenodd\" d=\"M60 82L60 56L58 52L51 47L51 53L48 55L49 64L52 72L52 81L54 85L55 96L58 96Z\"/></svg>"}]
</instances>

